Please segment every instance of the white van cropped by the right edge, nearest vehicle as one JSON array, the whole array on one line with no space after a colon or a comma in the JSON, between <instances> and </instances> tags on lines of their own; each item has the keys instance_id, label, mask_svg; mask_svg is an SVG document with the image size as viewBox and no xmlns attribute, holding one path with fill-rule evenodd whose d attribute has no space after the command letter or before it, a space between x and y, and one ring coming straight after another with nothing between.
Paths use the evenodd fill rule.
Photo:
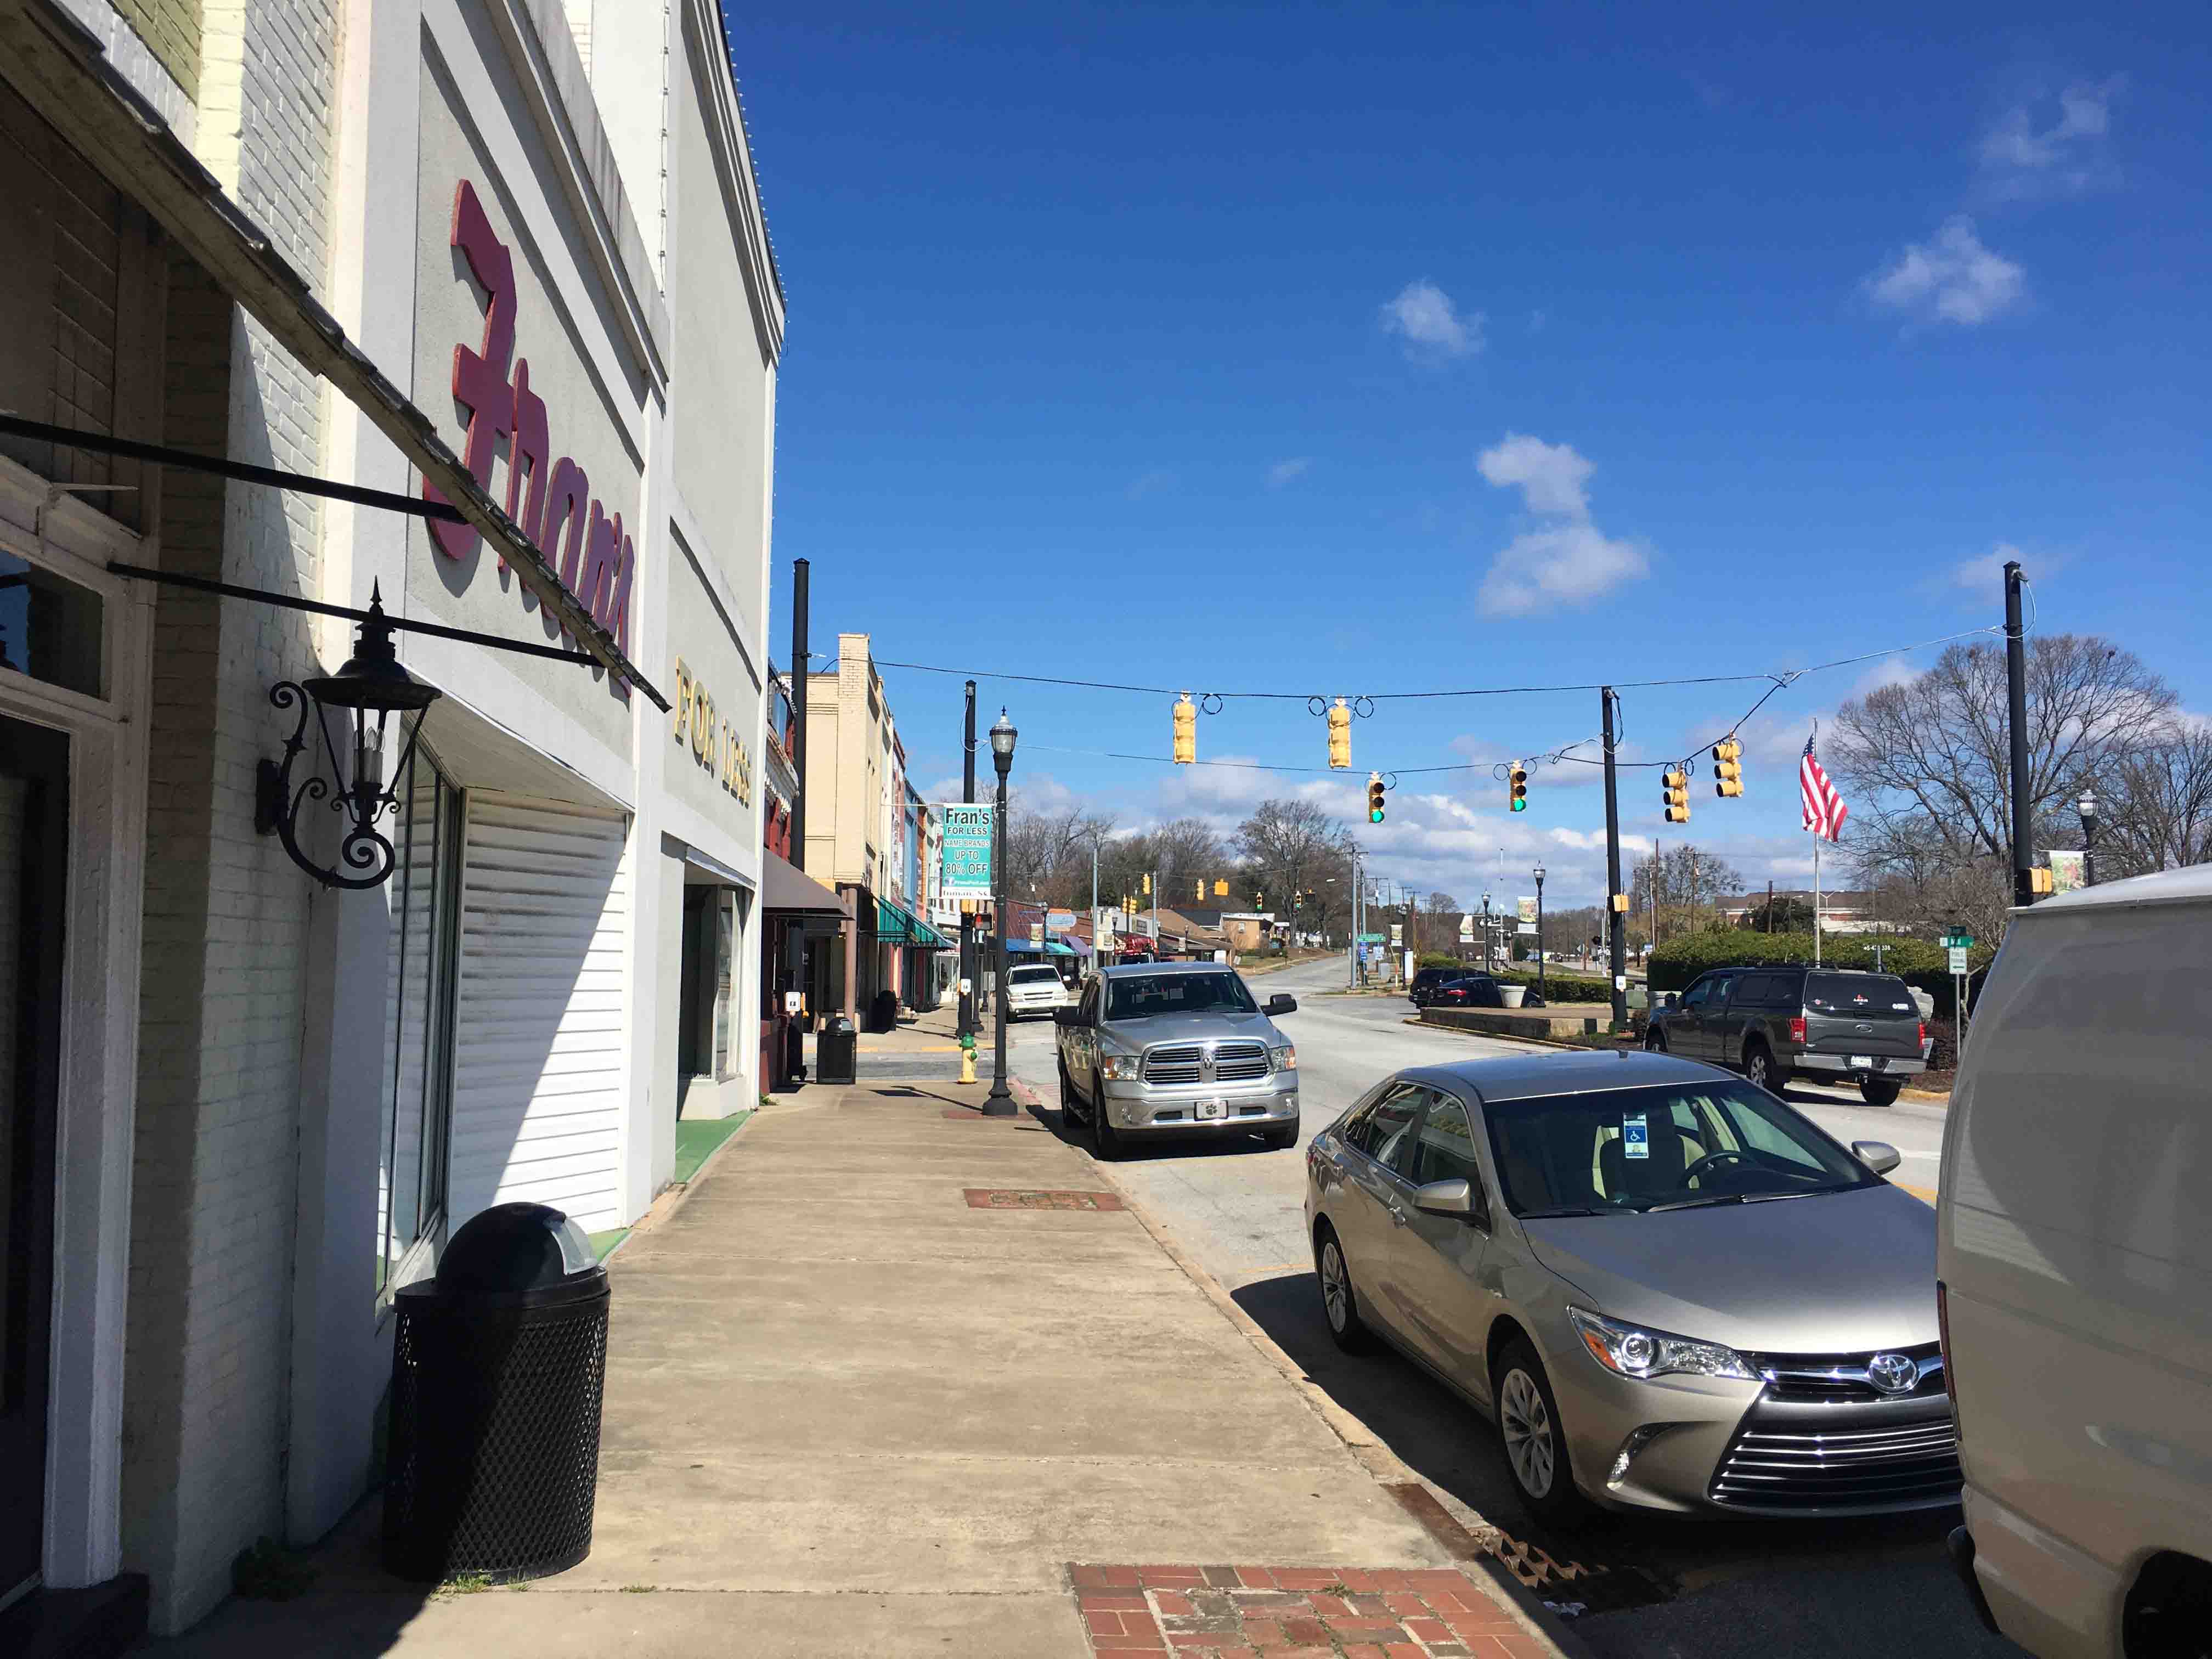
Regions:
<instances>
[{"instance_id":1,"label":"white van cropped by the right edge, nearest vehicle","mask_svg":"<svg viewBox=\"0 0 2212 1659\"><path fill-rule=\"evenodd\" d=\"M1936 1243L1951 1535L2044 1659L2212 1626L2212 865L2015 911L1966 1033Z\"/></svg>"}]
</instances>

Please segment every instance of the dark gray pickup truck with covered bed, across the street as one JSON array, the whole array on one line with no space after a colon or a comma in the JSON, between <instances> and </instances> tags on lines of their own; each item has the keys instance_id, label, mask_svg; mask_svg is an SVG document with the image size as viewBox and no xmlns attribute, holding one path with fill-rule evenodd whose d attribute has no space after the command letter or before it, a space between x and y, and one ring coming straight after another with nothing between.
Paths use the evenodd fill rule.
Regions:
<instances>
[{"instance_id":1,"label":"dark gray pickup truck with covered bed, across the street","mask_svg":"<svg viewBox=\"0 0 2212 1659\"><path fill-rule=\"evenodd\" d=\"M1927 1071L1927 1024L1896 973L1843 969L1714 969L1650 1013L1646 1048L1732 1066L1781 1093L1792 1075L1856 1082L1869 1106L1891 1106Z\"/></svg>"}]
</instances>

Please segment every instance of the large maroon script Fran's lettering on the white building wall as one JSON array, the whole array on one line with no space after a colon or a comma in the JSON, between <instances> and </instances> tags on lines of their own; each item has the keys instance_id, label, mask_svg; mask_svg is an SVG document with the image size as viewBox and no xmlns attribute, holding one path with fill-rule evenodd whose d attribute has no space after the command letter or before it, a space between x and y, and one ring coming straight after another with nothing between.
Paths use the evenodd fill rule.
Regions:
<instances>
[{"instance_id":1,"label":"large maroon script Fran's lettering on the white building wall","mask_svg":"<svg viewBox=\"0 0 2212 1659\"><path fill-rule=\"evenodd\" d=\"M469 407L469 438L462 465L478 484L491 487L491 460L507 449L507 515L557 568L560 584L575 595L591 619L630 648L630 573L635 553L622 531L622 513L608 515L591 493L591 480L568 456L553 460L546 400L531 392L529 358L515 361L515 261L500 241L476 186L453 188L449 241L469 261L484 290L484 338L471 352L453 347L453 400ZM509 374L509 363L513 372ZM434 484L422 495L442 502ZM469 557L482 535L473 524L431 520L431 540L449 560ZM555 557L557 549L557 557ZM681 714L677 717L681 721Z\"/></svg>"}]
</instances>

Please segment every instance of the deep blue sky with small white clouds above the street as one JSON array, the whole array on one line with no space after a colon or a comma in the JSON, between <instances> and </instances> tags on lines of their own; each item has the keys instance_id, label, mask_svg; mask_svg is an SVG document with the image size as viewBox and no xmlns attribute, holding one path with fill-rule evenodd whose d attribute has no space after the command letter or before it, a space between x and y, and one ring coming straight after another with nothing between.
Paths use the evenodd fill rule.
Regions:
<instances>
[{"instance_id":1,"label":"deep blue sky with small white clouds above the street","mask_svg":"<svg viewBox=\"0 0 2212 1659\"><path fill-rule=\"evenodd\" d=\"M1785 20L1783 20L1785 18ZM2000 619L2212 708L2203 7L730 11L790 294L776 622L1000 672L1360 695L1763 672ZM1803 880L1794 752L1918 657L1807 677L1690 834ZM918 785L960 681L885 670ZM1354 772L1166 754L1168 699L984 679L1018 781L1232 825L1597 730L1385 701ZM1624 692L1628 759L1759 686ZM1203 759L1318 768L1301 703ZM1374 867L1604 887L1595 768L1400 776ZM1624 774L1624 834L1663 825ZM1495 880L1500 865L1504 880Z\"/></svg>"}]
</instances>

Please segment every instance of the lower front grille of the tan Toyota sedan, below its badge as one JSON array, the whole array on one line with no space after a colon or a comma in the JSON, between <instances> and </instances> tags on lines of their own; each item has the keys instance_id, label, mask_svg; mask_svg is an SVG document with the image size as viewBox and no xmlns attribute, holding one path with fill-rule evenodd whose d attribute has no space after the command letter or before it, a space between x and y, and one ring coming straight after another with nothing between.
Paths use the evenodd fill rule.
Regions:
<instances>
[{"instance_id":1,"label":"lower front grille of the tan Toyota sedan, below its badge","mask_svg":"<svg viewBox=\"0 0 2212 1659\"><path fill-rule=\"evenodd\" d=\"M1743 1509L1889 1509L1958 1498L1958 1429L1924 1418L1880 1429L1745 1429L1710 1498Z\"/></svg>"}]
</instances>

